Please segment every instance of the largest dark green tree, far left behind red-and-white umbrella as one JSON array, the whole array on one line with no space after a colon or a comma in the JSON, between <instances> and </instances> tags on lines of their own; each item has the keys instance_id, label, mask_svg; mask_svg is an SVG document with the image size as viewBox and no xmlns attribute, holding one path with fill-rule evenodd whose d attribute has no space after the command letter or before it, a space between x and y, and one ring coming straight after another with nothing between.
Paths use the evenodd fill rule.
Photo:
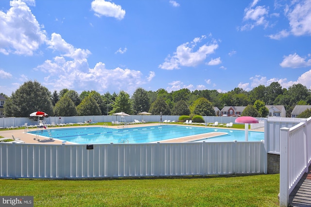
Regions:
<instances>
[{"instance_id":1,"label":"largest dark green tree, far left behind red-and-white umbrella","mask_svg":"<svg viewBox=\"0 0 311 207\"><path fill-rule=\"evenodd\" d=\"M4 104L7 117L29 117L35 111L53 115L51 92L37 81L22 84Z\"/></svg>"}]
</instances>

